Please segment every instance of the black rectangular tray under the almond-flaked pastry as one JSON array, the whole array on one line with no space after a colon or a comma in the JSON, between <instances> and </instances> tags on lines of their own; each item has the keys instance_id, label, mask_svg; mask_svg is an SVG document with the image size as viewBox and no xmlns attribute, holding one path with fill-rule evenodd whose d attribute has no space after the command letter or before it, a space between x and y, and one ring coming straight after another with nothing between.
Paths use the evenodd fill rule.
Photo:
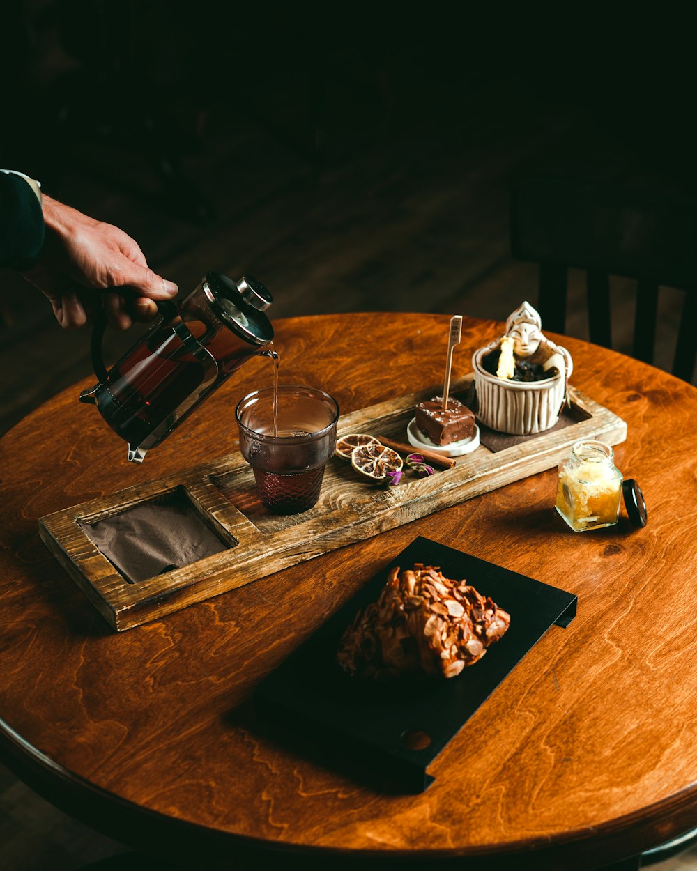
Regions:
<instances>
[{"instance_id":1,"label":"black rectangular tray under the almond-flaked pastry","mask_svg":"<svg viewBox=\"0 0 697 871\"><path fill-rule=\"evenodd\" d=\"M349 678L335 661L343 631L360 607L376 600L393 566L407 569L414 563L466 578L511 614L509 630L457 678L392 683ZM571 593L418 537L261 682L255 705L286 735L294 730L349 764L360 762L399 792L423 792L434 780L426 768L467 719L552 625L568 626L575 616Z\"/></svg>"}]
</instances>

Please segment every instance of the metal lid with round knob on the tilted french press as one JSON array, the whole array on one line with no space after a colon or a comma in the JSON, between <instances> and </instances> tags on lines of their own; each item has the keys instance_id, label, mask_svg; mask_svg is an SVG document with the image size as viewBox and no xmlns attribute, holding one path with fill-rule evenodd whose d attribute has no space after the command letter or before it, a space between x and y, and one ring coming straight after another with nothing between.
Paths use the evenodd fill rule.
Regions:
<instances>
[{"instance_id":1,"label":"metal lid with round knob on the tilted french press","mask_svg":"<svg viewBox=\"0 0 697 871\"><path fill-rule=\"evenodd\" d=\"M245 275L233 281L218 272L206 273L201 287L216 316L240 338L266 345L274 338L274 327L264 314L274 298L261 281Z\"/></svg>"}]
</instances>

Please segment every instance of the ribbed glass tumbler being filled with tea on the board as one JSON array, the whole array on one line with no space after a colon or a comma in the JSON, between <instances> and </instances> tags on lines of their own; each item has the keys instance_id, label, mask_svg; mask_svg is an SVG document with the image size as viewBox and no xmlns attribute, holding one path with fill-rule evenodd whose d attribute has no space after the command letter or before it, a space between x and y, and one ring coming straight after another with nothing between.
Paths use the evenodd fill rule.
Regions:
<instances>
[{"instance_id":1,"label":"ribbed glass tumbler being filled with tea on the board","mask_svg":"<svg viewBox=\"0 0 697 871\"><path fill-rule=\"evenodd\" d=\"M240 451L254 469L261 503L274 514L300 514L320 496L334 454L339 406L323 390L280 385L254 390L235 408Z\"/></svg>"}]
</instances>

